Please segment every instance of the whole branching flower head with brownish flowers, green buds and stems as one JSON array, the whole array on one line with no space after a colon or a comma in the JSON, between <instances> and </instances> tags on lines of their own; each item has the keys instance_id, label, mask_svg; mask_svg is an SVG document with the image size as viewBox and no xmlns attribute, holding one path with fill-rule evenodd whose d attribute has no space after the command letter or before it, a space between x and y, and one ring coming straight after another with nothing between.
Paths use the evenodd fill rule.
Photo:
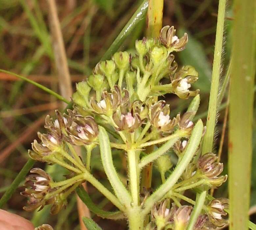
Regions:
<instances>
[{"instance_id":1,"label":"whole branching flower head with brownish flowers, green buds and stems","mask_svg":"<svg viewBox=\"0 0 256 230\"><path fill-rule=\"evenodd\" d=\"M47 132L38 132L40 141L34 140L29 150L31 158L58 164L70 174L66 180L54 182L43 170L31 170L22 193L29 198L25 210L52 204L51 212L56 214L65 207L67 196L88 180L120 209L104 214L104 218L127 218L131 230L142 230L151 210L144 229L187 228L193 206L183 204L183 200L192 205L195 201L185 191L208 192L227 179L220 175L223 164L218 157L201 152L205 129L201 120L193 122L200 103L199 90L192 90L198 73L189 65L178 67L174 60L173 52L185 49L187 42L186 33L179 38L174 27L166 26L158 38L136 41L133 55L126 51L115 53L111 60L100 61L85 81L76 84L74 109L64 114L56 110L55 118L48 115ZM187 111L173 114L167 99L159 99L168 93L180 99L194 98ZM75 146L85 147L85 162ZM121 176L128 181L127 187L113 164L113 149L124 160L127 156L127 172ZM93 154L100 155L115 194L91 173ZM143 197L141 172L151 165L161 174L162 185ZM148 181L150 170L144 171ZM204 201L194 229L223 226L227 222L223 218L226 209L228 200L224 198ZM51 228L45 225L39 229Z\"/></svg>"}]
</instances>

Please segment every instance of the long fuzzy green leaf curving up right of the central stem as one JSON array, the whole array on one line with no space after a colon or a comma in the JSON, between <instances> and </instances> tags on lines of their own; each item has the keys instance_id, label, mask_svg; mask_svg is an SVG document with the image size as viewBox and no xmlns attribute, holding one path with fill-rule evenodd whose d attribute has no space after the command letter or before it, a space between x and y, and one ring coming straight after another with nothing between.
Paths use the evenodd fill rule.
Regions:
<instances>
[{"instance_id":1,"label":"long fuzzy green leaf curving up right of the central stem","mask_svg":"<svg viewBox=\"0 0 256 230\"><path fill-rule=\"evenodd\" d=\"M144 202L144 210L142 212L145 215L151 210L155 202L160 200L162 197L164 197L164 195L166 195L171 190L172 186L177 182L181 174L185 171L186 167L190 163L195 151L197 150L200 144L202 132L203 132L203 123L201 120L199 120L193 128L188 146L179 164L173 170L172 174L167 178L166 182L162 184Z\"/></svg>"}]
</instances>

